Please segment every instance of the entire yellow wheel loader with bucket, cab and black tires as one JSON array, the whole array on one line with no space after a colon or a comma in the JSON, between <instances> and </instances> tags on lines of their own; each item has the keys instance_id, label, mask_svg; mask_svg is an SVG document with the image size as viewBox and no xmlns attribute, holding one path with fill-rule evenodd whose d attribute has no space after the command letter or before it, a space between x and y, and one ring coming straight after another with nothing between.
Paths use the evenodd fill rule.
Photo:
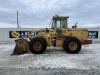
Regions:
<instances>
[{"instance_id":1,"label":"entire yellow wheel loader with bucket, cab and black tires","mask_svg":"<svg viewBox=\"0 0 100 75\"><path fill-rule=\"evenodd\" d=\"M51 28L41 29L31 33L27 39L15 40L16 46L12 55L20 55L31 51L34 54L43 53L47 47L62 47L67 53L76 54L81 50L82 45L92 44L88 40L88 30L86 28L77 28L77 25L68 28L68 16L52 17Z\"/></svg>"}]
</instances>

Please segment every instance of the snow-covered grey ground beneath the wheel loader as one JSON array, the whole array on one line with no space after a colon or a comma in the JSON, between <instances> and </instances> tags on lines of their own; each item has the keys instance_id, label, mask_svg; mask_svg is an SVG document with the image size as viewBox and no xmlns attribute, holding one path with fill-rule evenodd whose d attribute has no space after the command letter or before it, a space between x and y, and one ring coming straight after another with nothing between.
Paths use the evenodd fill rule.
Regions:
<instances>
[{"instance_id":1,"label":"snow-covered grey ground beneath the wheel loader","mask_svg":"<svg viewBox=\"0 0 100 75\"><path fill-rule=\"evenodd\" d=\"M82 47L79 54L47 48L44 54L11 56L15 44L0 44L0 75L100 75L100 44Z\"/></svg>"}]
</instances>

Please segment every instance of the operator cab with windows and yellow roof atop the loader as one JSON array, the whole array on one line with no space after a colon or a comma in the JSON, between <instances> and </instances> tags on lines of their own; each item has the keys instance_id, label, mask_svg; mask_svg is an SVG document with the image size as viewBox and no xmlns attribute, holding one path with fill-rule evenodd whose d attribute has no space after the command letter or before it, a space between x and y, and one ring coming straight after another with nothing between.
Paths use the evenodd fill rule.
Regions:
<instances>
[{"instance_id":1,"label":"operator cab with windows and yellow roof atop the loader","mask_svg":"<svg viewBox=\"0 0 100 75\"><path fill-rule=\"evenodd\" d=\"M53 16L52 29L67 28L68 27L68 16Z\"/></svg>"}]
</instances>

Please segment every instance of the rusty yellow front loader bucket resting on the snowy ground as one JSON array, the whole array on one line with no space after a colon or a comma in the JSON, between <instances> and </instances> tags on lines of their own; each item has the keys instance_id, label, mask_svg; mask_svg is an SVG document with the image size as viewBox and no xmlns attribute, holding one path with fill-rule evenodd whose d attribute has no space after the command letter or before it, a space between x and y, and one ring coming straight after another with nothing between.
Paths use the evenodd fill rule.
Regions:
<instances>
[{"instance_id":1,"label":"rusty yellow front loader bucket resting on the snowy ground","mask_svg":"<svg viewBox=\"0 0 100 75\"><path fill-rule=\"evenodd\" d=\"M29 51L29 43L26 39L15 40L15 48L11 55L21 55Z\"/></svg>"}]
</instances>

